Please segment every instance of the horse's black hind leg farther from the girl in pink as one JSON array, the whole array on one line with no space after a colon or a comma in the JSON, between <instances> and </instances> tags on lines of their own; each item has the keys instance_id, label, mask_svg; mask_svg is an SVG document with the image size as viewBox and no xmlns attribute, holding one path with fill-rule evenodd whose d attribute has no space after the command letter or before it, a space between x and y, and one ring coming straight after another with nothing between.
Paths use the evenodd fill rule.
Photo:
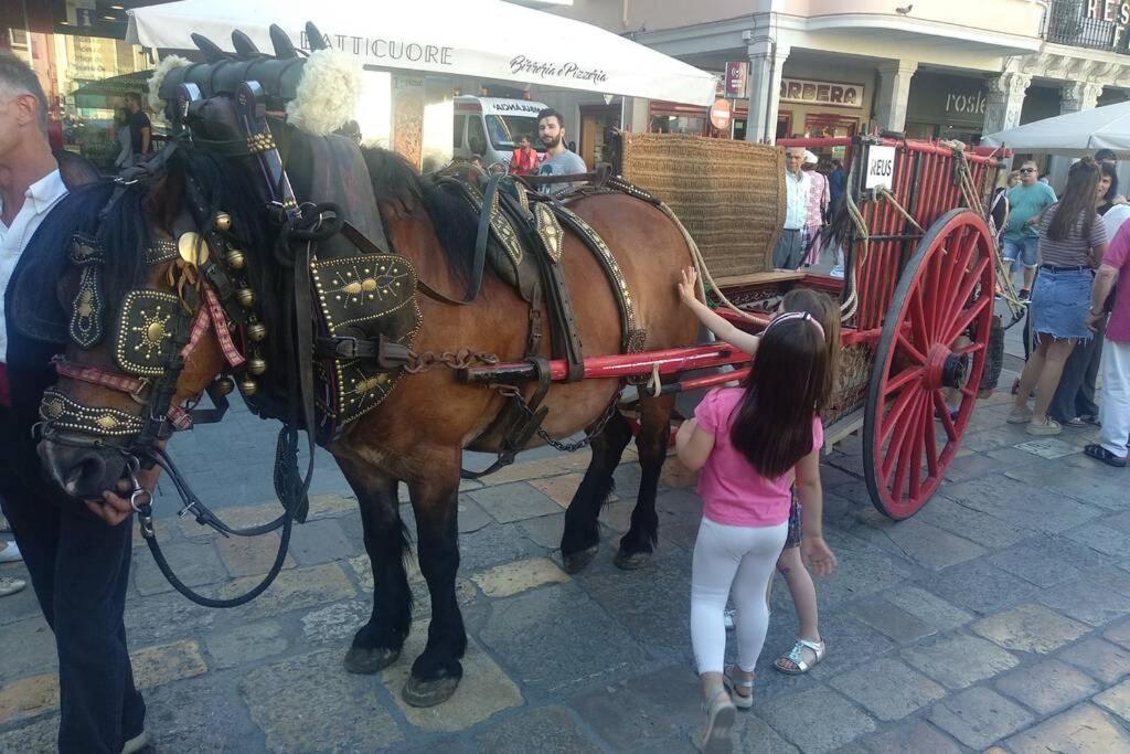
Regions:
<instances>
[{"instance_id":1,"label":"horse's black hind leg farther from the girl in pink","mask_svg":"<svg viewBox=\"0 0 1130 754\"><path fill-rule=\"evenodd\" d=\"M600 547L600 527L597 523L600 506L612 492L612 471L629 442L632 427L619 413L612 414L603 431L592 441L592 460L565 511L562 561L568 573L576 573L597 555Z\"/></svg>"}]
</instances>

